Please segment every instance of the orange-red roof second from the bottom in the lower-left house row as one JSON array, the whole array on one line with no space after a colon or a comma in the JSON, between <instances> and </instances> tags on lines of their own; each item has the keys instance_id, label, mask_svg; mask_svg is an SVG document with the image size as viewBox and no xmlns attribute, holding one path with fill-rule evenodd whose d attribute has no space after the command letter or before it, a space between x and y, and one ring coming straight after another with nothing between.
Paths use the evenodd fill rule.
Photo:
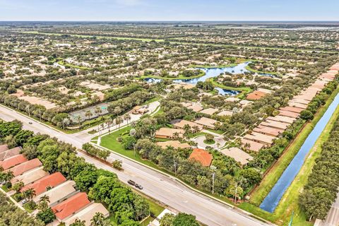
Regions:
<instances>
[{"instance_id":1,"label":"orange-red roof second from the bottom in the lower-left house row","mask_svg":"<svg viewBox=\"0 0 339 226\"><path fill-rule=\"evenodd\" d=\"M20 191L22 192L28 189L34 189L35 195L39 195L42 194L44 191L47 191L46 188L48 186L53 188L54 186L57 186L58 184L64 182L66 182L66 178L60 172L54 172L54 174L42 177L41 179L38 179L32 184L23 186L23 188Z\"/></svg>"}]
</instances>

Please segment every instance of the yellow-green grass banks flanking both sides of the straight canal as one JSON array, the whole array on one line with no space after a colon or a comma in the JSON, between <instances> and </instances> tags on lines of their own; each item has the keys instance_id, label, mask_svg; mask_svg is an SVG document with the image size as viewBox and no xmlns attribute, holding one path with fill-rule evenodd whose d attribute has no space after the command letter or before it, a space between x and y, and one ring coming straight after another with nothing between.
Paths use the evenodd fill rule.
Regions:
<instances>
[{"instance_id":1,"label":"yellow-green grass banks flanking both sides of the straight canal","mask_svg":"<svg viewBox=\"0 0 339 226\"><path fill-rule=\"evenodd\" d=\"M314 119L311 122L308 122L304 129L299 133L299 135L292 141L291 145L285 153L279 158L275 165L270 169L270 172L266 174L266 177L263 178L261 184L255 189L251 194L250 203L242 203L239 205L239 208L242 208L250 213L258 215L261 218L275 222L278 225L287 225L290 221L292 211L295 212L293 217L293 225L296 226L308 226L313 225L312 222L307 222L304 210L299 206L299 194L302 192L305 184L307 183L307 178L311 173L311 169L314 167L316 158L321 154L321 145L323 142L327 141L329 133L333 127L334 121L339 117L339 107L335 109L335 113L331 117L330 121L326 125L326 128L321 133L321 136L318 138L314 147L310 151L307 160L305 160L302 169L300 169L299 174L295 177L292 184L289 186L283 198L281 199L279 205L275 209L274 213L268 213L264 210L261 210L258 206L263 201L263 198L267 196L270 190L273 188L274 184L278 181L281 174L283 174L285 168L290 164L293 157L299 151L299 148L302 146L306 140L309 133L316 123L321 119L323 114L328 109L328 106L331 105L334 97L339 93L339 88L333 92L333 94L328 98L326 105L323 105L319 112L316 113Z\"/></svg>"}]
</instances>

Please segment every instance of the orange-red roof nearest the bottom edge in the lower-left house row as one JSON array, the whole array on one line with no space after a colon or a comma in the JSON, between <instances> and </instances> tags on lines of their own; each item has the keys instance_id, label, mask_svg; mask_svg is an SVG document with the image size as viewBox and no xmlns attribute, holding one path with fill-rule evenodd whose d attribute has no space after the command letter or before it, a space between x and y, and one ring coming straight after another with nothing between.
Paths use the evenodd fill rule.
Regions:
<instances>
[{"instance_id":1,"label":"orange-red roof nearest the bottom edge in the lower-left house row","mask_svg":"<svg viewBox=\"0 0 339 226\"><path fill-rule=\"evenodd\" d=\"M59 203L57 206L52 207L55 216L59 220L64 220L65 218L73 215L81 208L84 208L90 203L85 192L80 192L71 198L66 199L62 203Z\"/></svg>"}]
</instances>

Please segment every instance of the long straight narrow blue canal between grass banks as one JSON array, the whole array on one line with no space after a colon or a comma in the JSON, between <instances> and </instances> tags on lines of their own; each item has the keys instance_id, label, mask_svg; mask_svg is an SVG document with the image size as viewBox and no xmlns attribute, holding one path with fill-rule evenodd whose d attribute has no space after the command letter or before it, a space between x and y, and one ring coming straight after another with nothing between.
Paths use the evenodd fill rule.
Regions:
<instances>
[{"instance_id":1,"label":"long straight narrow blue canal between grass banks","mask_svg":"<svg viewBox=\"0 0 339 226\"><path fill-rule=\"evenodd\" d=\"M318 121L314 129L309 133L309 136L304 141L302 147L299 149L297 155L290 162L290 165L285 169L278 182L273 186L273 189L270 191L268 196L263 200L260 205L260 208L266 210L270 213L273 213L275 208L278 206L280 199L285 194L285 191L293 182L297 174L299 173L302 165L304 165L304 160L307 157L309 151L316 143L316 140L321 135L323 129L325 129L328 121L331 119L331 116L335 109L339 105L339 94L335 96L335 99L331 103L331 105L326 110L323 117Z\"/></svg>"}]
</instances>

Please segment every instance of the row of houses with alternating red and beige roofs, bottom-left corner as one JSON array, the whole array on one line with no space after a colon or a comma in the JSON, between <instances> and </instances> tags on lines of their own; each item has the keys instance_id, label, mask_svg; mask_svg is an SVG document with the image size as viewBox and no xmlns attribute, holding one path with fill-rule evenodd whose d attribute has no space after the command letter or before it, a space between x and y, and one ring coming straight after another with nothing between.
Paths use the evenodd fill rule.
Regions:
<instances>
[{"instance_id":1,"label":"row of houses with alternating red and beige roofs, bottom-left corner","mask_svg":"<svg viewBox=\"0 0 339 226\"><path fill-rule=\"evenodd\" d=\"M95 213L109 216L101 203L89 201L87 194L76 190L75 182L67 180L60 172L45 172L39 159L28 160L20 150L20 147L8 149L7 145L0 145L0 166L5 172L13 172L11 184L23 182L20 192L35 191L32 199L35 203L39 203L42 196L49 196L49 207L57 217L54 224L71 225L78 219L90 225Z\"/></svg>"}]
</instances>

